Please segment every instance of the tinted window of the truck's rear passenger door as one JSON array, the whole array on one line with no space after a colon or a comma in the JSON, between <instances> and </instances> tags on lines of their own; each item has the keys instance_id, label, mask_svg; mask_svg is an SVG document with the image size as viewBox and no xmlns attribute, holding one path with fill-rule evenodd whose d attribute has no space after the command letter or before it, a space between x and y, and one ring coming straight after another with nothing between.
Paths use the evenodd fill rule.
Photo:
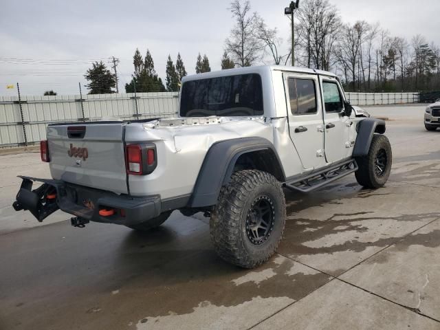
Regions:
<instances>
[{"instance_id":1,"label":"tinted window of the truck's rear passenger door","mask_svg":"<svg viewBox=\"0 0 440 330\"><path fill-rule=\"evenodd\" d=\"M293 115L317 113L315 81L289 78L290 110Z\"/></svg>"}]
</instances>

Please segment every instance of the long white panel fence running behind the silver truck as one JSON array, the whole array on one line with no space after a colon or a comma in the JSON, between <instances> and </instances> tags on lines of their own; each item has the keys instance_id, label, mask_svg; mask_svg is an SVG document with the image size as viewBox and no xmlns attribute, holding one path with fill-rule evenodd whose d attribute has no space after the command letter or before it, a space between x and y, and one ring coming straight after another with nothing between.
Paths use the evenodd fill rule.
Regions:
<instances>
[{"instance_id":1,"label":"long white panel fence running behind the silver truck","mask_svg":"<svg viewBox=\"0 0 440 330\"><path fill-rule=\"evenodd\" d=\"M353 105L419 102L413 93L347 93ZM121 118L166 118L177 115L177 93L74 96L0 96L0 146L34 144L45 139L47 124Z\"/></svg>"}]
</instances>

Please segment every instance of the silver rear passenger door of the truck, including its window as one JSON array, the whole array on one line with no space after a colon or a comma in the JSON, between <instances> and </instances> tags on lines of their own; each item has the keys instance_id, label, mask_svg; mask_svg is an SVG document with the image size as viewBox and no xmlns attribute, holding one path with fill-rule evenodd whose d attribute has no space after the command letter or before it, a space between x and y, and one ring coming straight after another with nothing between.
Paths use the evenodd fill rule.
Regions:
<instances>
[{"instance_id":1,"label":"silver rear passenger door of the truck, including its window","mask_svg":"<svg viewBox=\"0 0 440 330\"><path fill-rule=\"evenodd\" d=\"M284 74L289 131L305 170L325 165L322 101L318 76Z\"/></svg>"}]
</instances>

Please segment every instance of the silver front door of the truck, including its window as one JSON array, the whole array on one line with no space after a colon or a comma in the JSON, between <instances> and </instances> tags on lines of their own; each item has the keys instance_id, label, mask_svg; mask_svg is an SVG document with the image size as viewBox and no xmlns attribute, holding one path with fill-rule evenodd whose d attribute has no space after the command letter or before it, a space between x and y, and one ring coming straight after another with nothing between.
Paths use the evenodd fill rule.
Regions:
<instances>
[{"instance_id":1,"label":"silver front door of the truck, including its window","mask_svg":"<svg viewBox=\"0 0 440 330\"><path fill-rule=\"evenodd\" d=\"M327 162L338 162L350 156L351 120L344 116L344 98L338 81L321 78L324 103L325 157Z\"/></svg>"}]
</instances>

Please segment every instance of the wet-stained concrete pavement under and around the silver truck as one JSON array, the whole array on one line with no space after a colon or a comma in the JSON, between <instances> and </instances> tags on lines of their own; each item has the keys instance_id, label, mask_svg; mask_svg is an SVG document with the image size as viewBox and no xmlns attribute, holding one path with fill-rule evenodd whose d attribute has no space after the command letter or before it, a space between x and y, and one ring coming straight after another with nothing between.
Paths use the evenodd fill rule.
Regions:
<instances>
[{"instance_id":1,"label":"wet-stained concrete pavement under and around the silver truck","mask_svg":"<svg viewBox=\"0 0 440 330\"><path fill-rule=\"evenodd\" d=\"M369 108L391 119L386 187L286 191L278 253L250 271L217 257L201 214L148 234L36 223L10 208L14 176L46 165L0 156L0 329L440 329L440 131L423 109Z\"/></svg>"}]
</instances>

